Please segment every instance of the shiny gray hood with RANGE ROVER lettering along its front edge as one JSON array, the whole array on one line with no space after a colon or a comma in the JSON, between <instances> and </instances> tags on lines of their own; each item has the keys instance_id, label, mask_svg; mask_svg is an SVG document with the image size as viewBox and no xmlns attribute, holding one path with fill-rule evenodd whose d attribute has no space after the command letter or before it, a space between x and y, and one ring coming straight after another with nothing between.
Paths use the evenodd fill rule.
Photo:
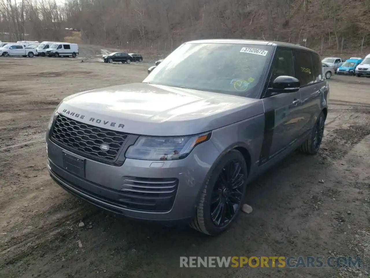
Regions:
<instances>
[{"instance_id":1,"label":"shiny gray hood with RANGE ROVER lettering along its front edge","mask_svg":"<svg viewBox=\"0 0 370 278\"><path fill-rule=\"evenodd\" d=\"M111 130L182 136L214 130L262 114L263 104L260 99L133 83L66 97L57 112Z\"/></svg>"}]
</instances>

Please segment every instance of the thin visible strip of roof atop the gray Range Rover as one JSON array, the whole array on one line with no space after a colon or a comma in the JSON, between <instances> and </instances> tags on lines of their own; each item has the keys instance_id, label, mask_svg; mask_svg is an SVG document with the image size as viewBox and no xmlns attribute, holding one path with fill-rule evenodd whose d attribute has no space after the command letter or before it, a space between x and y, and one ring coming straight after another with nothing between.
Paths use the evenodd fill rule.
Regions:
<instances>
[{"instance_id":1,"label":"thin visible strip of roof atop the gray Range Rover","mask_svg":"<svg viewBox=\"0 0 370 278\"><path fill-rule=\"evenodd\" d=\"M210 39L210 40L193 40L186 43L230 43L230 44L255 44L266 46L289 47L293 49L306 50L318 54L316 51L304 46L293 43L275 42L268 40L242 40L242 39Z\"/></svg>"}]
</instances>

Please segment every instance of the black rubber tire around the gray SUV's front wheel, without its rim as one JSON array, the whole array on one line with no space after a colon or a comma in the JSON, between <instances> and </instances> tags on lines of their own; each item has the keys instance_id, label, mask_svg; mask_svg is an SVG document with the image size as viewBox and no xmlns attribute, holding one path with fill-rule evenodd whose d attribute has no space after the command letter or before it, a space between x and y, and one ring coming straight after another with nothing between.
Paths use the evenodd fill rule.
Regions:
<instances>
[{"instance_id":1,"label":"black rubber tire around the gray SUV's front wheel, without its rim","mask_svg":"<svg viewBox=\"0 0 370 278\"><path fill-rule=\"evenodd\" d=\"M241 190L240 193L240 201L238 201L238 205L233 204L232 207L229 207L229 209L232 209L234 211L234 214L228 222L226 222L222 226L215 225L215 222L212 220L211 217L211 211L213 210L212 207L212 195L214 195L215 192L213 190L215 189L216 182L219 179L220 174L225 171L225 166L229 165L229 163L237 162L240 166L240 173L243 173L243 176L240 176L238 180L240 180L239 189ZM239 176L239 174L238 174ZM225 176L224 176L225 177ZM193 229L196 229L199 232L202 232L203 234L207 235L218 235L222 232L226 231L233 223L233 221L236 219L240 212L240 208L242 206L242 202L245 196L246 192L246 185L247 185L247 177L248 177L248 168L245 162L245 159L243 155L237 151L237 150L231 150L230 152L226 153L225 156L216 164L215 168L213 169L212 173L208 177L208 180L205 183L205 187L203 191L201 192L199 202L196 208L196 215L194 216L193 221L191 222L190 226ZM217 183L220 184L220 183ZM219 189L219 199L224 199L221 192L225 192L222 189ZM235 193L235 192L234 192ZM231 210L230 210L231 211Z\"/></svg>"}]
</instances>

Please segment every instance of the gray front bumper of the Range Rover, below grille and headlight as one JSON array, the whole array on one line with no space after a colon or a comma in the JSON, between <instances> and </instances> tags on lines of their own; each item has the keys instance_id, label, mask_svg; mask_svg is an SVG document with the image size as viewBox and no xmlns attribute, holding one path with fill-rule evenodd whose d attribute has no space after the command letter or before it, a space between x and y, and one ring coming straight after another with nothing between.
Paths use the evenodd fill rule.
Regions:
<instances>
[{"instance_id":1,"label":"gray front bumper of the Range Rover, below grille and headlight","mask_svg":"<svg viewBox=\"0 0 370 278\"><path fill-rule=\"evenodd\" d=\"M194 217L205 179L211 166L220 155L212 141L208 140L196 146L187 158L181 160L125 159L124 164L118 167L85 159L85 175L84 178L81 178L65 169L63 164L65 153L75 157L80 156L76 156L51 142L48 135L46 142L50 176L63 189L108 211L129 218L160 222L186 222ZM155 165L152 164L153 162ZM130 196L134 195L134 197L128 197L127 191L122 190L127 177L140 182L148 181L145 185L146 190L157 188L160 184L170 180L176 181L174 198L169 206L168 204L164 205L168 209L166 211L153 210L164 202L163 196L160 194L158 196L153 194L144 196L145 194L142 192L131 191L129 192ZM143 184L141 183L141 185ZM150 186L152 188L149 188ZM151 198L150 201L153 205L145 203L148 199L143 198ZM137 202L137 204L132 205L128 202ZM140 205L142 203L145 205Z\"/></svg>"}]
</instances>

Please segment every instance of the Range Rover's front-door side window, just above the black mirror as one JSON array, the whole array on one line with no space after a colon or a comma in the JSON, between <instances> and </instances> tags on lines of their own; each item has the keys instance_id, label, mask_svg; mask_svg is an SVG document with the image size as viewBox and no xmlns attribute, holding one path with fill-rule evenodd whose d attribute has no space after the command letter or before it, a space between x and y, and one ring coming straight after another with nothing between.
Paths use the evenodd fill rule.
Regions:
<instances>
[{"instance_id":1,"label":"Range Rover's front-door side window, just above the black mirror","mask_svg":"<svg viewBox=\"0 0 370 278\"><path fill-rule=\"evenodd\" d=\"M290 49L277 49L269 87L272 86L275 78L281 75L294 76L293 52Z\"/></svg>"}]
</instances>

